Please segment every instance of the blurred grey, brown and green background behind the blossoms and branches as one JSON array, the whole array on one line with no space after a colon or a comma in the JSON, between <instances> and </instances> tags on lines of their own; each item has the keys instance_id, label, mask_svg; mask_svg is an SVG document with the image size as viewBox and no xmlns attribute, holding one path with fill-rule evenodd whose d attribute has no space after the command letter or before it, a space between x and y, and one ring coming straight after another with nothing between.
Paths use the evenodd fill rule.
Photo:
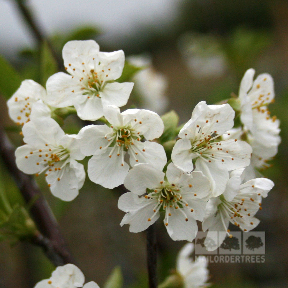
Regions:
<instances>
[{"instance_id":1,"label":"blurred grey, brown and green background behind the blossoms and branches","mask_svg":"<svg viewBox=\"0 0 288 288\"><path fill-rule=\"evenodd\" d=\"M39 42L16 2L0 0L0 53L22 79L34 79L45 86L45 77L39 74ZM167 79L163 84L167 100L155 109L160 109L159 113L174 109L180 123L190 119L199 101L213 104L230 98L231 93L238 94L240 80L248 68L253 67L256 75L264 72L272 75L276 102L270 105L270 110L271 115L281 120L282 143L272 161L273 167L263 171L275 187L263 200L263 210L256 215L261 222L255 230L266 232L266 262L212 263L209 269L214 288L287 287L288 1L31 0L26 3L59 58L63 45L71 39L95 39L101 51L122 49L126 57L137 54L151 57L155 71ZM51 71L46 71L48 76L54 73ZM1 123L13 143L22 145L19 130L8 118L3 97L0 103ZM145 103L142 105L145 107ZM66 132L74 133L83 125L71 115L64 127ZM11 201L23 201L2 164L0 179ZM86 282L94 280L101 287L113 268L120 265L125 287L147 287L145 233L132 234L128 225L120 227L124 212L117 208L117 189L105 190L86 177L79 196L65 203L51 196L43 177L37 181ZM162 221L157 221L156 227L161 281L175 268L175 257L184 242L171 240ZM54 269L41 249L27 242L11 245L8 240L0 242L0 267L1 288L31 288L37 281L48 278Z\"/></svg>"}]
</instances>

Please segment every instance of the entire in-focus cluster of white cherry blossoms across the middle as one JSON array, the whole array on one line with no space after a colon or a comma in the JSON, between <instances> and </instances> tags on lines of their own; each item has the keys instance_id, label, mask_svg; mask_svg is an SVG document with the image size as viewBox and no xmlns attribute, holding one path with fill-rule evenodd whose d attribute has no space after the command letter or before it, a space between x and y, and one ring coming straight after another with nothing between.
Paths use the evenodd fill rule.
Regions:
<instances>
[{"instance_id":1,"label":"entire in-focus cluster of white cherry blossoms across the middle","mask_svg":"<svg viewBox=\"0 0 288 288\"><path fill-rule=\"evenodd\" d=\"M204 231L229 236L230 222L243 231L258 225L254 216L274 183L255 169L267 165L280 143L279 121L267 108L274 100L270 75L253 82L255 71L249 69L233 99L235 107L198 103L168 153L161 140L166 127L157 113L120 111L134 85L117 81L124 68L122 50L100 52L93 40L69 41L62 56L67 73L50 76L46 90L25 80L7 102L10 117L23 126L26 144L16 150L20 170L43 173L52 194L71 201L86 176L78 161L92 156L91 181L109 189L124 184L130 191L119 198L118 208L126 212L120 225L129 224L131 232L147 229L161 214L173 240L193 241L197 220ZM142 88L144 75L139 74ZM53 115L71 106L82 120L101 118L104 124L65 134ZM236 128L235 111L241 122ZM224 239L218 240L221 245Z\"/></svg>"}]
</instances>

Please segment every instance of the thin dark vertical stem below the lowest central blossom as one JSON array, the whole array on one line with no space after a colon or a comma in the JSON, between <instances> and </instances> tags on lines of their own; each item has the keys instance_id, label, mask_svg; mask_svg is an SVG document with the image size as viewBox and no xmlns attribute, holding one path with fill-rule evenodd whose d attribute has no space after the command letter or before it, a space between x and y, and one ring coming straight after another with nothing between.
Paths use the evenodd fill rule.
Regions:
<instances>
[{"instance_id":1,"label":"thin dark vertical stem below the lowest central blossom","mask_svg":"<svg viewBox=\"0 0 288 288\"><path fill-rule=\"evenodd\" d=\"M147 268L149 278L149 288L157 288L157 241L155 224L149 226L147 233Z\"/></svg>"}]
</instances>

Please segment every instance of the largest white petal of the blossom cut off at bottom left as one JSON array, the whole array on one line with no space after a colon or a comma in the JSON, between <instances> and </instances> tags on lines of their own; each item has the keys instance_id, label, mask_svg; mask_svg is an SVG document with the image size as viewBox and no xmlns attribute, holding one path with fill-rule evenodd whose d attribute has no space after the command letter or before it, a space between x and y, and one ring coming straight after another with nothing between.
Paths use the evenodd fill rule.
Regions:
<instances>
[{"instance_id":1,"label":"largest white petal of the blossom cut off at bottom left","mask_svg":"<svg viewBox=\"0 0 288 288\"><path fill-rule=\"evenodd\" d=\"M83 286L85 278L77 266L66 264L64 266L58 266L56 270L52 272L50 281L59 288L76 288Z\"/></svg>"}]
</instances>

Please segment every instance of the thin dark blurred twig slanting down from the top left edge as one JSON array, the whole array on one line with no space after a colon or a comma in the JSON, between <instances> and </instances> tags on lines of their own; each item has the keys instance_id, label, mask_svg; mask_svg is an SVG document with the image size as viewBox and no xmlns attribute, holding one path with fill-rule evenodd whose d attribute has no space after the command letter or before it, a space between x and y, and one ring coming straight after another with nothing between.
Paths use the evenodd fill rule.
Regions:
<instances>
[{"instance_id":1,"label":"thin dark blurred twig slanting down from the top left edge","mask_svg":"<svg viewBox=\"0 0 288 288\"><path fill-rule=\"evenodd\" d=\"M27 7L27 5L25 3L26 1L25 0L15 0L15 1L18 5L18 8L19 8L22 16L26 20L26 23L28 24L28 26L32 30L33 35L38 42L38 46L40 47L40 45L45 41L47 43L53 57L55 58L55 60L57 62L58 69L63 70L64 65L63 65L62 59L59 57L57 52L54 50L54 47L51 44L51 42L45 37L44 33L39 28L39 25L36 24L36 21L33 18L31 11L29 10L29 8Z\"/></svg>"}]
</instances>

